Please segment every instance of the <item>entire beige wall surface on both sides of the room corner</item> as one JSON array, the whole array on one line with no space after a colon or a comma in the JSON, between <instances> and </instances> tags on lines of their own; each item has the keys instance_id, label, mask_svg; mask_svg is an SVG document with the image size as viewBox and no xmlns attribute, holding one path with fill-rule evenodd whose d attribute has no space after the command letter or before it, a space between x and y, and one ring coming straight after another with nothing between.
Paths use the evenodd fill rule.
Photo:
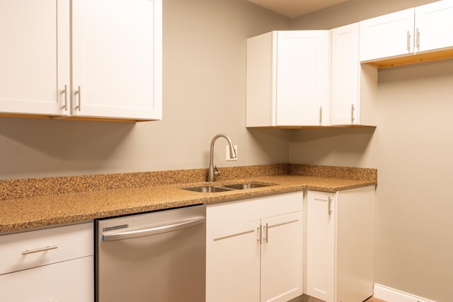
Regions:
<instances>
[{"instance_id":1,"label":"entire beige wall surface on both sides of the room corner","mask_svg":"<svg viewBox=\"0 0 453 302\"><path fill-rule=\"evenodd\" d=\"M0 118L0 179L204 168L225 132L239 161L378 168L376 281L435 301L453 284L453 62L379 72L378 127L246 129L246 37L289 19L243 0L164 0L164 120ZM352 0L292 21L333 28L432 1ZM291 144L291 146L290 146Z\"/></svg>"}]
</instances>

